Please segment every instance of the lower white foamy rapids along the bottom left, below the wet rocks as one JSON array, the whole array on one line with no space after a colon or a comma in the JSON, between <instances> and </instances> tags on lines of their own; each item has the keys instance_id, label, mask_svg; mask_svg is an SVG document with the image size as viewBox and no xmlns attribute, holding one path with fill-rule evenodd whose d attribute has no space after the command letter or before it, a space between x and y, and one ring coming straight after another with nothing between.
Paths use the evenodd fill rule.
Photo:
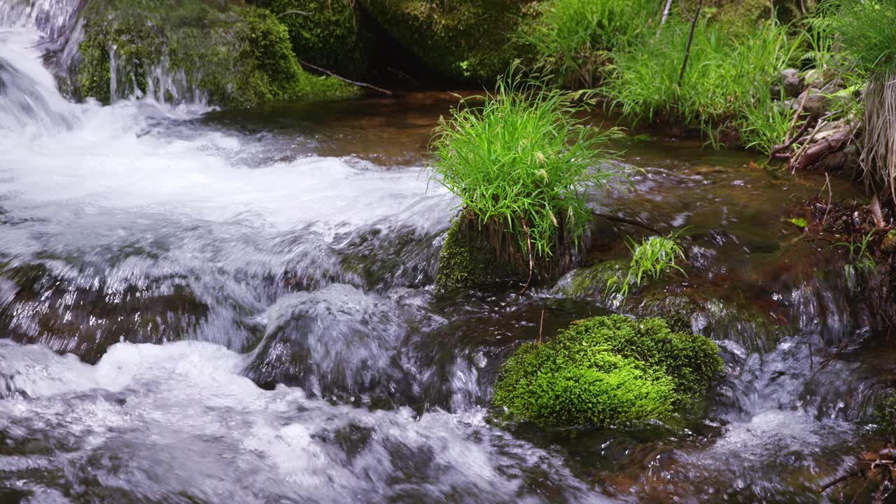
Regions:
<instances>
[{"instance_id":1,"label":"lower white foamy rapids along the bottom left, below the wet rocks","mask_svg":"<svg viewBox=\"0 0 896 504\"><path fill-rule=\"evenodd\" d=\"M264 391L236 374L243 359L211 343L119 343L89 366L0 342L0 486L75 501L602 501L482 412Z\"/></svg>"}]
</instances>

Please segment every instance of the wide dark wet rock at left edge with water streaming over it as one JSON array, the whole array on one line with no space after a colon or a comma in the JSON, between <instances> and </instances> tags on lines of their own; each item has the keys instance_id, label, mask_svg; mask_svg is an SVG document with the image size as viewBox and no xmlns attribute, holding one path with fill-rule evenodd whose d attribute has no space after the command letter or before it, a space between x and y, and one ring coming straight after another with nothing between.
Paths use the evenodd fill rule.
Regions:
<instances>
[{"instance_id":1,"label":"wide dark wet rock at left edge with water streaming over it","mask_svg":"<svg viewBox=\"0 0 896 504\"><path fill-rule=\"evenodd\" d=\"M0 324L7 335L72 352L83 361L98 361L123 340L183 339L208 313L209 307L177 277L118 286L86 266L0 263Z\"/></svg>"}]
</instances>

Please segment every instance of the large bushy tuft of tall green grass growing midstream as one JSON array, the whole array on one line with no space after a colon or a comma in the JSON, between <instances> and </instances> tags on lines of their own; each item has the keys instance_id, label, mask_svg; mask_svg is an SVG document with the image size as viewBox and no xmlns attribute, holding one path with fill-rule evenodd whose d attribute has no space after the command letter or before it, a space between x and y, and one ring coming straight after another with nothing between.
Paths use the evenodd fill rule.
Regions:
<instances>
[{"instance_id":1,"label":"large bushy tuft of tall green grass growing midstream","mask_svg":"<svg viewBox=\"0 0 896 504\"><path fill-rule=\"evenodd\" d=\"M439 122L436 180L517 265L577 247L591 221L583 193L614 175L601 164L616 131L583 126L574 117L581 109L563 92L511 76Z\"/></svg>"}]
</instances>

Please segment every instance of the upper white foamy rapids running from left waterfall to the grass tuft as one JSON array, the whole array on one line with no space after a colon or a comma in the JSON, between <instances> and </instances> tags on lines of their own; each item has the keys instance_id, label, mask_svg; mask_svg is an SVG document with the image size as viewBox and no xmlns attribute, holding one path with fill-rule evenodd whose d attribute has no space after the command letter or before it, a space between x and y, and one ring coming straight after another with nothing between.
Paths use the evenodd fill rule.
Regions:
<instances>
[{"instance_id":1,"label":"upper white foamy rapids running from left waterfall to the grass tuft","mask_svg":"<svg viewBox=\"0 0 896 504\"><path fill-rule=\"evenodd\" d=\"M294 255L284 235L339 247L375 227L447 226L455 203L420 169L283 153L282 142L202 126L197 106L68 103L30 48L37 36L0 31L0 206L21 222L4 229L0 253L83 256L127 245L245 267ZM210 249L220 264L202 254Z\"/></svg>"}]
</instances>

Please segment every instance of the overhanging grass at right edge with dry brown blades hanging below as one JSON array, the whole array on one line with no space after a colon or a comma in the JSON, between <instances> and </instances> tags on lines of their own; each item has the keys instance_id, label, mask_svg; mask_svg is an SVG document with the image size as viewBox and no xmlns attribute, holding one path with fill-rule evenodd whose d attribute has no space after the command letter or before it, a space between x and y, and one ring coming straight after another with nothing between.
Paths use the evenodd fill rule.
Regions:
<instances>
[{"instance_id":1,"label":"overhanging grass at right edge with dry brown blades hanging below","mask_svg":"<svg viewBox=\"0 0 896 504\"><path fill-rule=\"evenodd\" d=\"M843 2L829 19L869 79L861 159L866 184L889 192L896 204L896 2Z\"/></svg>"}]
</instances>

